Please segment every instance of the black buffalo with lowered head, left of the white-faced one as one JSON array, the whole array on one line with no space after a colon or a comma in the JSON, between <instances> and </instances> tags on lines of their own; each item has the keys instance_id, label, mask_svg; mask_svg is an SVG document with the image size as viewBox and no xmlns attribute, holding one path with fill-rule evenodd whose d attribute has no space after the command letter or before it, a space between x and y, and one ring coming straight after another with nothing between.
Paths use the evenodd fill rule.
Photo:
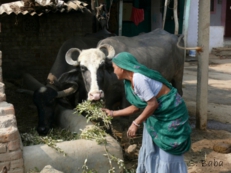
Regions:
<instances>
[{"instance_id":1,"label":"black buffalo with lowered head, left of the white-faced one","mask_svg":"<svg viewBox=\"0 0 231 173\"><path fill-rule=\"evenodd\" d=\"M45 85L39 83L29 74L24 75L25 85L32 91L33 101L37 107L39 117L37 131L40 135L47 135L52 127L57 104L67 109L73 109L87 98L81 72L66 63L66 52L72 47L80 49L96 47L100 40L111 35L110 32L103 29L94 34L84 37L76 36L65 41L58 51Z\"/></svg>"}]
</instances>

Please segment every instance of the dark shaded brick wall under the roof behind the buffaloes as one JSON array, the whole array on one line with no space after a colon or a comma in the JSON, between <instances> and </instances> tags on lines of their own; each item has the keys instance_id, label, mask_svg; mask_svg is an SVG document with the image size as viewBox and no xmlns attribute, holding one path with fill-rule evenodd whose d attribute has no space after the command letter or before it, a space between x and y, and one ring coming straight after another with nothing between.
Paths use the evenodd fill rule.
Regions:
<instances>
[{"instance_id":1,"label":"dark shaded brick wall under the roof behind the buffaloes","mask_svg":"<svg viewBox=\"0 0 231 173\"><path fill-rule=\"evenodd\" d=\"M62 43L72 36L92 33L92 19L87 11L1 16L4 80L20 79L26 72L46 82Z\"/></svg>"}]
</instances>

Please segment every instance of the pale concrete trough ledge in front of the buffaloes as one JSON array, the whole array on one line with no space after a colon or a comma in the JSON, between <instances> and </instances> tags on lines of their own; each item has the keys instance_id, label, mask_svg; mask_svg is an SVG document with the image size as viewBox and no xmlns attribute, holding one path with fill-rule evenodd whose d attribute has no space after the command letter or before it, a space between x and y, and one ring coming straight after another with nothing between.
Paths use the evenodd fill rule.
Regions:
<instances>
[{"instance_id":1,"label":"pale concrete trough ledge in front of the buffaloes","mask_svg":"<svg viewBox=\"0 0 231 173\"><path fill-rule=\"evenodd\" d=\"M110 154L123 159L120 145L111 137L107 137L107 149ZM106 156L105 146L95 141L75 140L58 143L67 156L64 157L47 145L34 145L23 148L25 171L37 167L42 170L46 165L51 165L57 170L68 173L81 173L85 159L89 169L97 172L108 172L110 164ZM113 163L116 172L120 172L117 163Z\"/></svg>"}]
</instances>

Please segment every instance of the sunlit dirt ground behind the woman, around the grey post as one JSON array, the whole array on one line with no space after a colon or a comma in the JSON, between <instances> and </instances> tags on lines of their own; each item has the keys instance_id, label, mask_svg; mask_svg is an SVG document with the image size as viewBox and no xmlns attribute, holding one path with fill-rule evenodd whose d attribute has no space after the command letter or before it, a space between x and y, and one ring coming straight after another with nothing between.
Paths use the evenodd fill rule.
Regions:
<instances>
[{"instance_id":1,"label":"sunlit dirt ground behind the woman, around the grey post","mask_svg":"<svg viewBox=\"0 0 231 173\"><path fill-rule=\"evenodd\" d=\"M185 63L184 99L193 128L192 147L185 154L189 173L231 173L231 153L213 151L214 144L231 144L231 58L210 55L207 130L195 129L197 62Z\"/></svg>"}]
</instances>

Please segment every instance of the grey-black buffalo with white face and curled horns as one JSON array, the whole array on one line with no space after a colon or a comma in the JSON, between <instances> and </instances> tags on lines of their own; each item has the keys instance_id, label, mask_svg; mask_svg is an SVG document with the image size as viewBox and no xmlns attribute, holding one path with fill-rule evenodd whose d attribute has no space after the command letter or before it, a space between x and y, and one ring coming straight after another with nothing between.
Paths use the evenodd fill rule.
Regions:
<instances>
[{"instance_id":1,"label":"grey-black buffalo with white face and curled horns","mask_svg":"<svg viewBox=\"0 0 231 173\"><path fill-rule=\"evenodd\" d=\"M184 57L177 41L176 35L162 29L135 37L115 36L101 40L97 48L70 49L66 61L81 70L88 100L104 98L110 109L121 99L125 103L123 83L116 78L111 64L111 59L123 51L130 52L140 63L159 71L182 95ZM78 52L79 56L74 57L74 52Z\"/></svg>"}]
</instances>

